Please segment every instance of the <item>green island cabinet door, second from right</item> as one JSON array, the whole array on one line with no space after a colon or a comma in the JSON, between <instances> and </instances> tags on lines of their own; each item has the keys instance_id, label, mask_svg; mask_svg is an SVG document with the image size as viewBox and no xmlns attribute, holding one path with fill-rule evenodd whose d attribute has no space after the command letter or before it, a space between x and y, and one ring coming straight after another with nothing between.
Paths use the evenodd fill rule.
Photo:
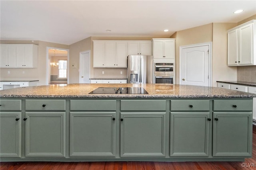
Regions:
<instances>
[{"instance_id":1,"label":"green island cabinet door, second from right","mask_svg":"<svg viewBox=\"0 0 256 170\"><path fill-rule=\"evenodd\" d=\"M209 155L209 112L171 112L170 156Z\"/></svg>"}]
</instances>

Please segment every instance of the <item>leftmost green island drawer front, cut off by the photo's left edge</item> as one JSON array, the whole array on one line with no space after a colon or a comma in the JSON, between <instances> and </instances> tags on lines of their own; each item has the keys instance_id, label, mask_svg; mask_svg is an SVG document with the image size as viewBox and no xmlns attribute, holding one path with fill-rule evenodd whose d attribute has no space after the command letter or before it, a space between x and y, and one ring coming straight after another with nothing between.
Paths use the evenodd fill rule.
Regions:
<instances>
[{"instance_id":1,"label":"leftmost green island drawer front, cut off by the photo's left edge","mask_svg":"<svg viewBox=\"0 0 256 170\"><path fill-rule=\"evenodd\" d=\"M0 100L0 111L21 111L21 100Z\"/></svg>"}]
</instances>

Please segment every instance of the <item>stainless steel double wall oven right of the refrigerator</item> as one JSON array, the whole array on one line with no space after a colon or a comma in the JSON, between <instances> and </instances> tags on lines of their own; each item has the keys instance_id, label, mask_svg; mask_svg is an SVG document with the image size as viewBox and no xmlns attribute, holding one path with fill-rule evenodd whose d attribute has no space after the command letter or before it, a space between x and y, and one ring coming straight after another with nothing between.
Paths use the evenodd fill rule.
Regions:
<instances>
[{"instance_id":1,"label":"stainless steel double wall oven right of the refrigerator","mask_svg":"<svg viewBox=\"0 0 256 170\"><path fill-rule=\"evenodd\" d=\"M154 83L174 84L174 63L154 63Z\"/></svg>"}]
</instances>

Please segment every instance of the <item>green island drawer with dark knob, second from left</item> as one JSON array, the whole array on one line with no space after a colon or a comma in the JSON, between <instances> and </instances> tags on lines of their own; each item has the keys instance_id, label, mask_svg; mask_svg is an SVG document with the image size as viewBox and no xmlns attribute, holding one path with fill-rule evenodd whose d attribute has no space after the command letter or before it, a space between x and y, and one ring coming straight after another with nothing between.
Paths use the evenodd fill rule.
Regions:
<instances>
[{"instance_id":1,"label":"green island drawer with dark knob, second from left","mask_svg":"<svg viewBox=\"0 0 256 170\"><path fill-rule=\"evenodd\" d=\"M66 100L26 100L26 110L66 110Z\"/></svg>"}]
</instances>

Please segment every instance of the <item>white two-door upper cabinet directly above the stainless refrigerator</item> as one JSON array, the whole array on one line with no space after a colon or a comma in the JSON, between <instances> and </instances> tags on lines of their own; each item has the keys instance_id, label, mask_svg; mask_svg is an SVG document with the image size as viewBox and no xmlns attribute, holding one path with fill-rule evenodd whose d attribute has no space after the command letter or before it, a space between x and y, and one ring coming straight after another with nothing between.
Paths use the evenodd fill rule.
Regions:
<instances>
[{"instance_id":1,"label":"white two-door upper cabinet directly above the stainless refrigerator","mask_svg":"<svg viewBox=\"0 0 256 170\"><path fill-rule=\"evenodd\" d=\"M128 55L152 55L151 41L128 41Z\"/></svg>"}]
</instances>

